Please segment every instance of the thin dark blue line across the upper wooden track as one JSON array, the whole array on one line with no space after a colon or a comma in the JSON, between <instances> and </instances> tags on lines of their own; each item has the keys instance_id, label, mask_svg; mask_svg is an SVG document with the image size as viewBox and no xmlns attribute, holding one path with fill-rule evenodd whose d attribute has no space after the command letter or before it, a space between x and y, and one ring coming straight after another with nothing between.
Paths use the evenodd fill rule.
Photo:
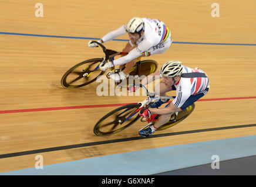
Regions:
<instances>
[{"instance_id":1,"label":"thin dark blue line across the upper wooden track","mask_svg":"<svg viewBox=\"0 0 256 187\"><path fill-rule=\"evenodd\" d=\"M37 37L59 37L66 39L86 39L86 40L99 40L94 37L76 37L76 36L55 36L55 35L42 35L42 34L25 34L25 33L9 33L0 32L0 34L10 34L10 35L20 35L20 36L37 36ZM114 39L115 41L129 41L122 39ZM205 44L205 45L228 45L228 46L256 46L256 44L246 44L246 43L202 43L202 42L183 42L183 41L173 41L173 43L179 44Z\"/></svg>"}]
</instances>

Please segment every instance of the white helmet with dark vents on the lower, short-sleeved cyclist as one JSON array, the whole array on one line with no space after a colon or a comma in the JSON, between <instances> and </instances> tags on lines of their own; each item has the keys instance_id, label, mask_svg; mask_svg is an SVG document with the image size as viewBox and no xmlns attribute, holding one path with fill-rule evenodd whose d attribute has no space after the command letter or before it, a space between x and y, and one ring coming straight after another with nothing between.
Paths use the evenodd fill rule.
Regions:
<instances>
[{"instance_id":1,"label":"white helmet with dark vents on the lower, short-sleeved cyclist","mask_svg":"<svg viewBox=\"0 0 256 187\"><path fill-rule=\"evenodd\" d=\"M161 67L160 73L166 77L175 77L181 75L182 70L180 61L167 61Z\"/></svg>"}]
</instances>

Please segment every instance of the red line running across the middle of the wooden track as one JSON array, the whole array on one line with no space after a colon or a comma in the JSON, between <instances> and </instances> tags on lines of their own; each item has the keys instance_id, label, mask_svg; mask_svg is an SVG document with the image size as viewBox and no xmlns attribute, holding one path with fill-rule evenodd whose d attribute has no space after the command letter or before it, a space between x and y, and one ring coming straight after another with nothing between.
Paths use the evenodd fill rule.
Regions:
<instances>
[{"instance_id":1,"label":"red line running across the middle of the wooden track","mask_svg":"<svg viewBox=\"0 0 256 187\"><path fill-rule=\"evenodd\" d=\"M237 98L199 99L198 101L223 101L223 100L235 100L235 99L256 99L256 96L237 97ZM49 110L101 108L101 107L123 106L123 105L128 105L128 104L130 104L130 103L106 104L106 105L63 106L63 107L38 108L38 109L0 110L0 114L1 113L21 113L21 112L42 112L42 111L49 111Z\"/></svg>"}]
</instances>

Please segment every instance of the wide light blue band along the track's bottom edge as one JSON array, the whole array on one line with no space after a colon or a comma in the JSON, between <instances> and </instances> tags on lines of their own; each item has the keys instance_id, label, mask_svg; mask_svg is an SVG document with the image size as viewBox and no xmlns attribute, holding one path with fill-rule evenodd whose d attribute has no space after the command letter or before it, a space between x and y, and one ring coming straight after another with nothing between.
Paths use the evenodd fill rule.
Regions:
<instances>
[{"instance_id":1,"label":"wide light blue band along the track's bottom edge","mask_svg":"<svg viewBox=\"0 0 256 187\"><path fill-rule=\"evenodd\" d=\"M218 155L220 161L256 155L255 142L256 136L203 141L62 162L45 165L43 169L2 172L0 175L150 175L201 164L211 167L213 155Z\"/></svg>"}]
</instances>

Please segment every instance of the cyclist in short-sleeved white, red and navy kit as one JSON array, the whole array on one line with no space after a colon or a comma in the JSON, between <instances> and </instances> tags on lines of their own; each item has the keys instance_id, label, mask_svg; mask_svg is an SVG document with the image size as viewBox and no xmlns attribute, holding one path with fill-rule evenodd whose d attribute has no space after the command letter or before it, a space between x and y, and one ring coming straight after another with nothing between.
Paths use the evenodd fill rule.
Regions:
<instances>
[{"instance_id":1,"label":"cyclist in short-sleeved white, red and navy kit","mask_svg":"<svg viewBox=\"0 0 256 187\"><path fill-rule=\"evenodd\" d=\"M149 76L153 76L153 78L149 78ZM146 109L140 114L143 117L147 117L151 114L161 115L155 124L151 124L147 129L139 131L140 136L143 137L149 136L154 133L157 128L169 122L170 116L173 115L173 113L186 109L199 98L206 95L210 88L209 79L204 71L198 68L189 68L181 65L180 61L167 61L159 72L154 72L149 76L142 79L140 84L146 85L157 78L163 78L159 83L160 85L155 87L159 88L159 90L155 90L155 92L160 96L166 96L166 92L176 90L176 98L170 102L166 108L156 109L163 103L169 101L169 99L161 99L153 103L150 109ZM138 88L139 86L129 86L128 89L130 92L134 92Z\"/></svg>"}]
</instances>

